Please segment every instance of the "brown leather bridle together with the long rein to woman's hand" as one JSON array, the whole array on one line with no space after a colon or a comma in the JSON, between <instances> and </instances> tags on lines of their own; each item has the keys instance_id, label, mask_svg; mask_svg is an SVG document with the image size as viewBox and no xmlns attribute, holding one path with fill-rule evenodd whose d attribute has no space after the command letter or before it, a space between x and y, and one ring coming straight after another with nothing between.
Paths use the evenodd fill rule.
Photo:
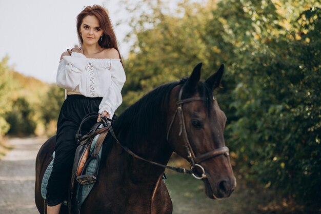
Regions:
<instances>
[{"instance_id":1,"label":"brown leather bridle together with the long rein to woman's hand","mask_svg":"<svg viewBox=\"0 0 321 214\"><path fill-rule=\"evenodd\" d=\"M176 111L174 113L173 119L171 120L171 123L170 123L170 125L168 127L168 130L167 130L167 141L169 141L169 139L168 139L169 133L171 131L171 128L172 128L172 125L173 125L174 120L176 118L176 115L178 115L178 119L179 119L179 133L178 133L178 135L180 136L183 133L184 147L186 148L186 151L187 151L187 154L188 154L187 158L188 158L188 161L189 161L189 163L191 165L191 169L186 169L184 167L167 166L167 165L163 165L163 164L156 163L156 162L153 162L153 161L149 161L147 159L144 159L144 158L138 156L137 154L132 152L127 146L123 146L118 141L118 139L117 139L117 137L116 137L116 135L115 135L115 133L113 131L113 128L111 126L111 122L109 121L109 119L103 118L104 119L104 123L105 123L105 125L108 126L108 129L109 129L111 135L113 136L113 138L116 140L116 142L126 152L131 154L134 158L142 160L142 161L145 161L145 162L148 162L148 163L156 165L156 166L160 166L160 167L163 167L163 168L174 170L174 171L177 171L177 172L181 172L181 173L185 173L185 174L186 173L192 174L192 176L194 178L196 178L196 179L206 179L207 176L206 176L205 169L202 167L202 165L200 165L200 163L202 163L205 160L208 160L208 159L211 159L211 158L215 158L215 157L217 157L217 156L219 156L221 154L224 154L226 157L228 157L230 155L229 154L229 148L224 146L224 147L220 147L220 148L214 149L212 151L206 152L204 154L200 154L198 156L195 156L195 153L194 153L194 151L192 149L192 146L191 146L190 141L189 141L188 136L187 136L186 126L185 126L185 121L184 121L183 105L185 103L189 103L189 102L193 102L193 101L205 101L205 99L198 97L198 98L188 98L188 99L182 100L183 88L184 87L180 88L179 95L178 95L178 101L176 102L177 108L176 108ZM214 99L214 100L216 100L216 99ZM198 177L194 173L194 170L195 170L196 167L199 167L202 170L202 176Z\"/></svg>"}]
</instances>

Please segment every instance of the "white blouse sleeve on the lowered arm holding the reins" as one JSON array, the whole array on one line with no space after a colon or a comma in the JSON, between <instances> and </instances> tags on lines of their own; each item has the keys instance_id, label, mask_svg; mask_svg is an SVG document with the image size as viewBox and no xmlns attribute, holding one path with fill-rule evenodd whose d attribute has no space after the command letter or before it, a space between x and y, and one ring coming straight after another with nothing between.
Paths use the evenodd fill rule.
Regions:
<instances>
[{"instance_id":1,"label":"white blouse sleeve on the lowered arm holding the reins","mask_svg":"<svg viewBox=\"0 0 321 214\"><path fill-rule=\"evenodd\" d=\"M122 104L122 88L126 81L126 75L121 62L115 64L115 68L111 69L111 83L108 90L103 96L103 100L99 105L98 113L102 114L103 111L107 111L111 118L114 115L116 109Z\"/></svg>"}]
</instances>

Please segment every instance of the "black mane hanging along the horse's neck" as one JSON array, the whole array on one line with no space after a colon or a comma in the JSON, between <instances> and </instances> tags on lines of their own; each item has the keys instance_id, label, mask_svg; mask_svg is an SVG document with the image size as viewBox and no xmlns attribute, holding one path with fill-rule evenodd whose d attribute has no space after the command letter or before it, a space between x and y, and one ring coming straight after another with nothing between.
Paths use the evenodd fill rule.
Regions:
<instances>
[{"instance_id":1,"label":"black mane hanging along the horse's neck","mask_svg":"<svg viewBox=\"0 0 321 214\"><path fill-rule=\"evenodd\" d=\"M152 134L166 131L167 111L162 107L168 106L172 89L183 82L172 82L155 88L119 115L113 122L115 132L121 133L119 141L123 136L130 136L130 142L124 138L122 141L123 145L130 146L132 142L150 139Z\"/></svg>"}]
</instances>

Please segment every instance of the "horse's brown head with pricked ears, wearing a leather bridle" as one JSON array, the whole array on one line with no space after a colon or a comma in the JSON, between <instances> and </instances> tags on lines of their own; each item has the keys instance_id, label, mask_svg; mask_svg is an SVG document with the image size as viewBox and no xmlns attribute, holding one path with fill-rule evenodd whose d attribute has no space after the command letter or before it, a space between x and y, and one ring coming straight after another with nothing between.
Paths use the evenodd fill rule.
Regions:
<instances>
[{"instance_id":1,"label":"horse's brown head with pricked ears, wearing a leather bridle","mask_svg":"<svg viewBox=\"0 0 321 214\"><path fill-rule=\"evenodd\" d=\"M198 64L187 81L172 90L167 138L174 151L190 162L193 176L204 181L207 196L222 199L236 186L224 141L226 116L212 95L224 65L205 82L199 81L201 67Z\"/></svg>"}]
</instances>

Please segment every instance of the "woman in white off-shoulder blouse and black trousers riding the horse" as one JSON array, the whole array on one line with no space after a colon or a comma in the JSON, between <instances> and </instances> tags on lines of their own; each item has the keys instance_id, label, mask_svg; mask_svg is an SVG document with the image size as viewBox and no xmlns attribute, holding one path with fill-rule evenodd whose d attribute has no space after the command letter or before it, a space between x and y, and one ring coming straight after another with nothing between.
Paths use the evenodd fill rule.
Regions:
<instances>
[{"instance_id":1,"label":"woman in white off-shoulder blouse and black trousers riding the horse","mask_svg":"<svg viewBox=\"0 0 321 214\"><path fill-rule=\"evenodd\" d=\"M77 16L81 47L61 56L57 86L66 90L57 123L55 159L47 186L47 213L59 213L70 180L75 133L83 117L90 112L112 118L122 103L121 90L126 77L115 33L107 11L88 6Z\"/></svg>"}]
</instances>

